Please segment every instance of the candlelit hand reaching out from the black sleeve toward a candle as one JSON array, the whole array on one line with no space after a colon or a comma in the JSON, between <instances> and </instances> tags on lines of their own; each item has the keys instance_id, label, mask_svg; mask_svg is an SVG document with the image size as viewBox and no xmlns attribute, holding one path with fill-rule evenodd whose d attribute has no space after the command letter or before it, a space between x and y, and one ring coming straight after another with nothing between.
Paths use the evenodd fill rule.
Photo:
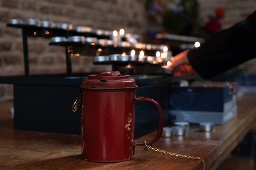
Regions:
<instances>
[{"instance_id":1,"label":"candlelit hand reaching out from the black sleeve toward a candle","mask_svg":"<svg viewBox=\"0 0 256 170\"><path fill-rule=\"evenodd\" d=\"M189 65L188 50L177 54L171 62L171 66L168 68L169 71L173 72L175 77L192 76L196 74L196 71Z\"/></svg>"}]
</instances>

